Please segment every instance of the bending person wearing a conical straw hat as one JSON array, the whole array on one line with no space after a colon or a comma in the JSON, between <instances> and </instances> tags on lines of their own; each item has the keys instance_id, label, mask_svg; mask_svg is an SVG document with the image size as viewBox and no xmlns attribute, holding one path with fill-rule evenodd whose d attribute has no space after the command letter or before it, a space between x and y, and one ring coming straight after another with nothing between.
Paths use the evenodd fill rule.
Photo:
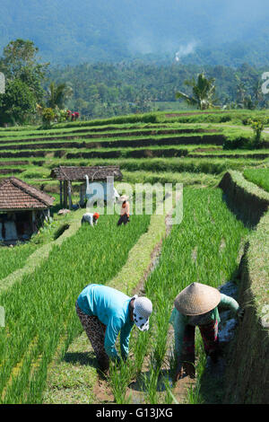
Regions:
<instances>
[{"instance_id":1,"label":"bending person wearing a conical straw hat","mask_svg":"<svg viewBox=\"0 0 269 422\"><path fill-rule=\"evenodd\" d=\"M192 283L182 290L174 304L170 323L175 330L175 381L178 381L184 370L191 378L195 378L195 326L201 332L205 354L216 364L221 356L218 334L221 319L218 307L230 308L239 319L243 318L244 310L232 297L200 283Z\"/></svg>"}]
</instances>

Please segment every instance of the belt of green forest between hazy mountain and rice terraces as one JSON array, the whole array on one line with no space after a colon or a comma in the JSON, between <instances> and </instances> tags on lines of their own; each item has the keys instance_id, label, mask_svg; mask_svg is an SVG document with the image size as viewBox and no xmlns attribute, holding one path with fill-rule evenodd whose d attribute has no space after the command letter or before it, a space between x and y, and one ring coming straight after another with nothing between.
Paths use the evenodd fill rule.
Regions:
<instances>
[{"instance_id":1,"label":"belt of green forest between hazy mountain and rice terraces","mask_svg":"<svg viewBox=\"0 0 269 422\"><path fill-rule=\"evenodd\" d=\"M263 69L242 65L228 66L169 66L133 64L81 65L58 67L50 70L48 80L72 87L73 96L68 101L71 110L78 110L86 119L109 117L131 112L162 110L167 102L186 108L184 102L175 104L178 90L191 92L185 81L202 70L215 78L217 104L221 107L266 107L268 94L261 92ZM236 105L237 103L237 105ZM171 104L170 104L171 106Z\"/></svg>"}]
</instances>

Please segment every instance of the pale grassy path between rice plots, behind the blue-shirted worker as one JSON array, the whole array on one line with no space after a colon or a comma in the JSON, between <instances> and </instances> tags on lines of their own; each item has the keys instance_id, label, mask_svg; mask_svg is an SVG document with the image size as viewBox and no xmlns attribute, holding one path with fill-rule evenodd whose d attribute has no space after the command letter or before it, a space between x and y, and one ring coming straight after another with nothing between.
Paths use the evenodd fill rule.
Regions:
<instances>
[{"instance_id":1,"label":"pale grassy path between rice plots, behind the blue-shirted worker","mask_svg":"<svg viewBox=\"0 0 269 422\"><path fill-rule=\"evenodd\" d=\"M126 295L133 295L134 289L137 291L138 281L141 282L146 277L152 266L152 251L160 245L165 232L165 215L153 214L147 232L143 233L134 244L126 264L117 276L108 282L108 286L120 289ZM43 403L96 402L97 398L94 397L93 391L98 376L94 354L92 351L86 352L89 346L89 339L83 332L79 338L74 339L64 356L55 356L48 368L48 382ZM117 371L114 374L117 376Z\"/></svg>"}]
</instances>

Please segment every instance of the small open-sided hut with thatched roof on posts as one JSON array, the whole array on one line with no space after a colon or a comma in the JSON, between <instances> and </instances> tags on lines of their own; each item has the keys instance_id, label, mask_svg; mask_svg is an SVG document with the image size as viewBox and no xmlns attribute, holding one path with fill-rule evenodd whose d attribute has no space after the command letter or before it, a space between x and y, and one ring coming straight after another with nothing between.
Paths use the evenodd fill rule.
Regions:
<instances>
[{"instance_id":1,"label":"small open-sided hut with thatched roof on posts","mask_svg":"<svg viewBox=\"0 0 269 422\"><path fill-rule=\"evenodd\" d=\"M82 181L80 186L80 206L82 207L85 202L87 185L89 188L89 183L99 182L103 187L106 199L108 178L113 178L113 180L122 180L123 175L117 165L92 167L65 167L60 165L51 171L50 177L59 180L60 182L61 207L67 207L68 201L69 209L71 209L73 181ZM114 189L114 185L112 188Z\"/></svg>"}]
</instances>

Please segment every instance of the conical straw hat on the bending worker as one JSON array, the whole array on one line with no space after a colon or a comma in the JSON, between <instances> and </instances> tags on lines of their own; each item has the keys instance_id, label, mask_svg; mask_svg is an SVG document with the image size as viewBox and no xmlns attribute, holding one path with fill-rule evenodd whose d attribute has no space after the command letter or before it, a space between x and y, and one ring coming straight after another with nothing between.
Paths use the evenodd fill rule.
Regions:
<instances>
[{"instance_id":1,"label":"conical straw hat on the bending worker","mask_svg":"<svg viewBox=\"0 0 269 422\"><path fill-rule=\"evenodd\" d=\"M175 307L184 315L201 315L213 310L221 301L219 290L214 287L192 283L175 299Z\"/></svg>"}]
</instances>

